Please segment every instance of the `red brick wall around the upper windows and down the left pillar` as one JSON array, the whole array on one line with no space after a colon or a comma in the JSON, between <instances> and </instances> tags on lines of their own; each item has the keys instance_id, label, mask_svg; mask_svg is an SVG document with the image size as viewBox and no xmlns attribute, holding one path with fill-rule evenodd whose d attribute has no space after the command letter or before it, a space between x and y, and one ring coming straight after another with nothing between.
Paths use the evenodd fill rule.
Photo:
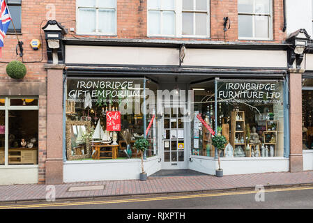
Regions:
<instances>
[{"instance_id":1,"label":"red brick wall around the upper windows and down the left pillar","mask_svg":"<svg viewBox=\"0 0 313 223\"><path fill-rule=\"evenodd\" d=\"M60 91L62 92L63 89L61 89L61 86L58 86L56 89L53 89L53 87L56 87L57 85L62 83L62 79L57 78L62 78L64 72L66 72L66 70L68 70L70 66L68 66L68 63L66 63L65 65L62 64L61 66L60 64L55 66L53 64L47 64L45 32L42 29L43 26L47 23L47 20L56 20L66 30L66 34L63 36L63 43L64 45L66 45L66 47L67 45L99 45L103 47L110 45L115 47L123 47L124 45L124 47L151 47L151 45L154 44L153 47L177 48L177 46L179 47L181 44L186 43L189 44L190 48L200 49L201 47L203 49L208 49L210 48L210 45L217 45L217 48L219 49L227 49L225 45L231 45L232 49L238 50L252 50L254 47L256 47L256 49L260 50L273 49L274 51L280 50L282 52L286 52L288 46L287 44L285 44L287 34L283 31L284 1L273 0L273 2L270 2L273 3L273 11L270 14L270 18L273 24L271 33L273 38L270 38L268 40L238 40L238 1L236 0L207 1L207 3L209 3L208 25L210 26L209 36L207 38L185 38L183 36L177 38L175 37L175 35L174 37L148 36L148 5L146 0L117 0L116 34L109 36L96 36L77 33L78 18L76 15L78 9L76 1L22 0L21 33L17 33L17 35L15 35L14 33L7 33L5 38L5 44L2 50L3 56L0 59L0 95L29 95L36 96L39 99L38 183L62 183L62 174L65 174L63 172L62 162L63 157L66 156L62 154L64 145L63 141L61 140L63 139L63 137L65 137L63 135L63 128L65 128L65 125L61 126L61 123L65 121L59 120L60 117L63 117L63 96L60 96ZM228 29L229 23L226 27L227 31L224 31L224 17L229 17L230 21L230 28ZM20 41L24 43L24 56L22 56L22 58L15 54L17 37ZM33 50L29 45L32 39L38 39L42 43L42 47L39 50ZM103 40L107 41L109 39L114 40L114 44L102 42ZM146 45L137 45L138 41L145 41ZM197 47L192 47L193 44L196 44ZM244 45L244 47L241 47L242 45ZM67 54L67 52L69 52L69 54ZM65 54L66 56L70 55L70 51L68 51L68 48L65 49ZM88 56L88 54L86 55ZM80 56L84 55L82 54ZM8 77L8 75L6 75L7 63L15 59L23 61L24 65L27 68L27 74L22 80L11 79L10 77ZM82 61L84 61L84 59ZM105 63L104 61L101 64L103 65L107 63ZM155 63L155 65L158 65L158 63ZM176 68L176 66L173 67ZM229 70L234 70L234 68L231 68L233 66L227 67L229 67ZM216 66L215 69L218 70L221 68ZM238 72L240 69L241 68L238 68ZM264 69L255 66L254 68L251 68L250 71L255 72L256 70L261 70L261 72L266 73L267 69L277 70L273 66L264 66ZM237 70L237 68L235 70ZM284 70L287 71L287 68L284 68ZM281 71L282 69L279 70L279 72ZM49 75L51 76L48 77ZM267 75L267 77L270 77L270 74ZM49 86L49 79L51 79L52 82L51 86ZM55 105L54 102L56 102L57 105ZM54 105L56 106L56 108L54 108ZM48 116L51 119L49 119ZM54 117L56 117L55 120ZM51 124L50 130L49 124ZM49 138L49 136L51 136L52 138L47 139ZM53 144L53 142L55 144ZM54 148L54 146L59 147ZM298 146L298 144L296 146ZM49 153L49 151L50 154L52 154L51 157L49 157L49 155L47 156L47 153ZM63 153L65 152L63 151ZM285 157L288 157L288 155L285 155ZM49 159L51 162L48 162L49 164L47 165L49 166L49 168L47 168L46 163ZM299 168L297 168L297 170L301 169L300 166ZM3 170L5 169L2 169L2 171ZM47 180L46 173L48 173L48 176L51 176L52 180ZM58 177L58 175L61 177ZM19 183L19 180L13 180L13 182Z\"/></svg>"}]
</instances>

